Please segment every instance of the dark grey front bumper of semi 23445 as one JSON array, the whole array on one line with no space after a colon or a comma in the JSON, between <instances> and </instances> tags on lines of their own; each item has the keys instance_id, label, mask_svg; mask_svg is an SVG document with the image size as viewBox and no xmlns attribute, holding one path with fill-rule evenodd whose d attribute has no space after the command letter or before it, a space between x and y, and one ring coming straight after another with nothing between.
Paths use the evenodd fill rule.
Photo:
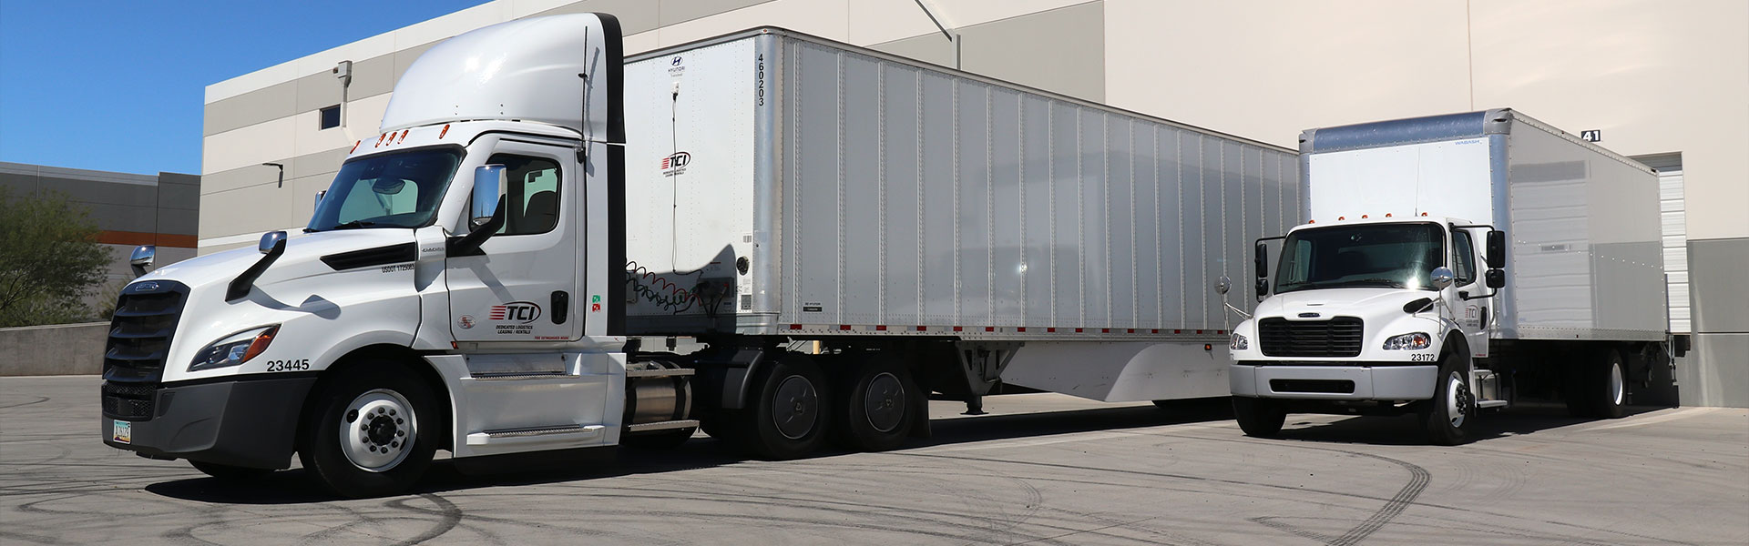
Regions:
<instances>
[{"instance_id":1,"label":"dark grey front bumper of semi 23445","mask_svg":"<svg viewBox=\"0 0 1749 546\"><path fill-rule=\"evenodd\" d=\"M103 443L154 458L191 458L257 469L292 464L297 415L315 376L241 378L220 383L161 385L131 410L112 413L105 394ZM143 406L143 408L142 408Z\"/></svg>"}]
</instances>

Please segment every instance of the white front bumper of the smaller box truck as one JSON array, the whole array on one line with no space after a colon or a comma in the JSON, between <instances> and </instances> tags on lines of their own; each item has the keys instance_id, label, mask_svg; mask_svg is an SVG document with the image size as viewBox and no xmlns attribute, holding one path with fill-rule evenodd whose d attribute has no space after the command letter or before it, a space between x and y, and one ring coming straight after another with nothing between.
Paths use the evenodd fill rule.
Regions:
<instances>
[{"instance_id":1,"label":"white front bumper of the smaller box truck","mask_svg":"<svg viewBox=\"0 0 1749 546\"><path fill-rule=\"evenodd\" d=\"M1233 396L1320 401L1425 401L1439 366L1228 366Z\"/></svg>"}]
</instances>

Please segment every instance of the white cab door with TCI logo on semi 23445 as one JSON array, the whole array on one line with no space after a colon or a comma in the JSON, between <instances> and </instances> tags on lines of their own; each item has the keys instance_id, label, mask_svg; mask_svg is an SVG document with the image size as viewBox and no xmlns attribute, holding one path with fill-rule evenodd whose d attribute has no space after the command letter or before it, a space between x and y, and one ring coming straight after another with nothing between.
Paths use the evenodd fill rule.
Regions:
<instances>
[{"instance_id":1,"label":"white cab door with TCI logo on semi 23445","mask_svg":"<svg viewBox=\"0 0 1749 546\"><path fill-rule=\"evenodd\" d=\"M446 259L449 331L456 341L567 341L579 324L577 231L582 226L570 149L500 140L504 228L483 256Z\"/></svg>"}]
</instances>

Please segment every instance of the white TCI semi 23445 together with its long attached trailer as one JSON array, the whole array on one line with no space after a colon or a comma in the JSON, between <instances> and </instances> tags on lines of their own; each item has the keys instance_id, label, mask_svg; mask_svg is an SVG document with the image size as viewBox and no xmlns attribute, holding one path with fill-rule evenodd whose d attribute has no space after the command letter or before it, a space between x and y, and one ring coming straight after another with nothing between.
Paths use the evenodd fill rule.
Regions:
<instances>
[{"instance_id":1,"label":"white TCI semi 23445 together with its long attached trailer","mask_svg":"<svg viewBox=\"0 0 1749 546\"><path fill-rule=\"evenodd\" d=\"M626 60L607 14L493 24L406 70L304 233L122 290L101 436L381 495L437 450L890 450L934 392L1224 397L1207 285L1291 224L1294 177L780 28Z\"/></svg>"}]
</instances>

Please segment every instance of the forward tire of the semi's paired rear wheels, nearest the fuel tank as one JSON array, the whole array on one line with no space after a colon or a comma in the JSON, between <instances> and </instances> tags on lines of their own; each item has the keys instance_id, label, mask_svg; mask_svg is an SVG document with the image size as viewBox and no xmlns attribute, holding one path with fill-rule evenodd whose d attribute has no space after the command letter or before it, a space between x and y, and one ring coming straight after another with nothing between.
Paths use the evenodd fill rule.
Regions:
<instances>
[{"instance_id":1,"label":"forward tire of the semi's paired rear wheels, nearest the fuel tank","mask_svg":"<svg viewBox=\"0 0 1749 546\"><path fill-rule=\"evenodd\" d=\"M796 458L820 448L831 425L831 390L826 374L805 355L784 354L754 374L752 408L729 415L729 438L761 458Z\"/></svg>"}]
</instances>

